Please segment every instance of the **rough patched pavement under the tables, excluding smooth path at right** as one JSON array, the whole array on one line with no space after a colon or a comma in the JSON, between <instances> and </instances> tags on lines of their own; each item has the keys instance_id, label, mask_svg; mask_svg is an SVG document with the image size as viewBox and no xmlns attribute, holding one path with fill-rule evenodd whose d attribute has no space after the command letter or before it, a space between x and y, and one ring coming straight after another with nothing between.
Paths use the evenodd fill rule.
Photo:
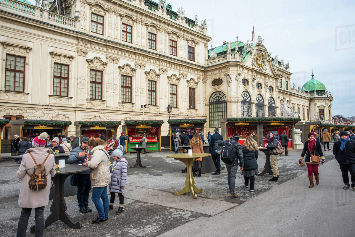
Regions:
<instances>
[{"instance_id":1,"label":"rough patched pavement under the tables, excluding smooth path at right","mask_svg":"<svg viewBox=\"0 0 355 237\"><path fill-rule=\"evenodd\" d=\"M67 213L76 221L82 222L81 229L72 229L61 221L56 221L45 230L45 236L158 236L175 227L184 225L199 217L212 217L223 211L234 208L241 203L257 197L258 195L287 182L297 176L307 176L306 168L300 168L298 159L301 150L289 151L289 156L279 156L279 182L269 182L269 175L256 177L255 192L249 192L244 187L244 177L240 171L236 177L236 193L238 198L230 199L228 194L227 172L214 176L211 173L195 177L197 188L203 188L203 192L193 199L190 193L175 196L173 192L180 191L184 186L186 173L181 173L184 164L167 155L169 151L160 153L147 153L142 155L142 163L146 169L128 169L125 192L125 211L121 215L115 215L115 211L109 212L109 220L104 224L92 225L91 221L97 217L95 207L89 201L92 213L82 214L78 211L76 196L66 197ZM331 151L325 151L326 162L334 159ZM129 165L135 163L136 154L127 154L125 158ZM17 205L20 180L16 177L18 165L13 160L1 159L0 162L0 236L15 236L18 217L21 208ZM223 162L222 162L223 164ZM258 158L259 171L263 170L265 155ZM320 173L322 167L320 167ZM307 184L306 178L305 186ZM91 198L91 197L90 197ZM116 198L118 201L118 198ZM45 208L45 216L49 215L51 201ZM118 203L115 203L115 209ZM28 223L34 225L33 214Z\"/></svg>"}]
</instances>

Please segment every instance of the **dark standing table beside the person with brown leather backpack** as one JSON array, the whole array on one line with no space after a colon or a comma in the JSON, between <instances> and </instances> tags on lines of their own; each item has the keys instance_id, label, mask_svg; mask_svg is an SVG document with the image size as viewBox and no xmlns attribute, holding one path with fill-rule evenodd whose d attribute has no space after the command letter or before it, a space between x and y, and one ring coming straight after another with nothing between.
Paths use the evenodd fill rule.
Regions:
<instances>
[{"instance_id":1,"label":"dark standing table beside the person with brown leather backpack","mask_svg":"<svg viewBox=\"0 0 355 237\"><path fill-rule=\"evenodd\" d=\"M90 168L87 166L80 166L77 164L65 164L65 168L61 168L60 172L57 172L52 178L55 188L54 199L52 205L50 206L51 214L47 217L44 223L44 228L50 226L53 222L61 220L69 227L74 229L81 228L81 222L73 222L70 216L66 213L66 204L64 199L64 182L67 177L72 174L80 173ZM50 185L48 183L47 185ZM35 226L32 226L30 229L31 233L35 232Z\"/></svg>"}]
</instances>

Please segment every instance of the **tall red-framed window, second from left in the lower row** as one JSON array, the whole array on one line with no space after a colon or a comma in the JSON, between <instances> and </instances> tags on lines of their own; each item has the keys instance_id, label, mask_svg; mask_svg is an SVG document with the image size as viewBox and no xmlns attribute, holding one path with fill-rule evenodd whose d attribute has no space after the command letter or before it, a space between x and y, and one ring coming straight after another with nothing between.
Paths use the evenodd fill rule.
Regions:
<instances>
[{"instance_id":1,"label":"tall red-framed window, second from left in the lower row","mask_svg":"<svg viewBox=\"0 0 355 237\"><path fill-rule=\"evenodd\" d=\"M54 64L53 95L68 96L69 65Z\"/></svg>"}]
</instances>

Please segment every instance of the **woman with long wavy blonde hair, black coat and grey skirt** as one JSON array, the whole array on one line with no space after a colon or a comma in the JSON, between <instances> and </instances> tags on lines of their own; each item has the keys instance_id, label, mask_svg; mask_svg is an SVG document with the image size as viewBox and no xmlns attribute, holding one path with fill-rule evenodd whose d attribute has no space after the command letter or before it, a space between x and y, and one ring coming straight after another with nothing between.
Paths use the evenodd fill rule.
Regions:
<instances>
[{"instance_id":1,"label":"woman with long wavy blonde hair, black coat and grey skirt","mask_svg":"<svg viewBox=\"0 0 355 237\"><path fill-rule=\"evenodd\" d=\"M242 175L244 176L244 186L249 187L250 180L250 192L254 192L255 175L259 173L258 162L256 161L259 156L259 148L256 140L252 137L247 137L245 139L244 145L242 146L243 157L244 157L244 170L242 170Z\"/></svg>"}]
</instances>

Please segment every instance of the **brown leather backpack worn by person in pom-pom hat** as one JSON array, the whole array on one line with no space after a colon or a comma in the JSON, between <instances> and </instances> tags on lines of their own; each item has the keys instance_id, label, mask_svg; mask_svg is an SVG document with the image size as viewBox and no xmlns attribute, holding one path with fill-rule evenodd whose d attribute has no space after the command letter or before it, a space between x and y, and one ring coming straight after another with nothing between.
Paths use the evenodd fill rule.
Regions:
<instances>
[{"instance_id":1,"label":"brown leather backpack worn by person in pom-pom hat","mask_svg":"<svg viewBox=\"0 0 355 237\"><path fill-rule=\"evenodd\" d=\"M38 165L35 159L33 158L32 154L31 153L28 154L32 157L35 164L32 176L29 175L29 173L27 173L29 176L31 176L31 178L28 181L28 185L29 188L31 188L31 192L32 190L37 190L38 192L38 189L45 189L45 187L47 186L47 176L45 174L44 162L48 159L50 154L47 155L47 157L45 158L42 164L38 164Z\"/></svg>"}]
</instances>

